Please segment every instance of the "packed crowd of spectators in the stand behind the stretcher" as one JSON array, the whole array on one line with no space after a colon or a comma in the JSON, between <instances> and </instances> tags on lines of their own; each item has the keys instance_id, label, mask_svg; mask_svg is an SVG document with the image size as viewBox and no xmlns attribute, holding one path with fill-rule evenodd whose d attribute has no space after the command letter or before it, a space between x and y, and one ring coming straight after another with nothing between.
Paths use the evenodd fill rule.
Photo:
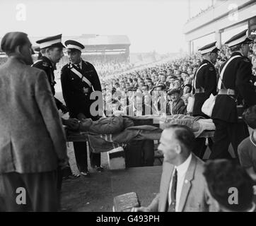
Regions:
<instances>
[{"instance_id":1,"label":"packed crowd of spectators in the stand behind the stretcher","mask_svg":"<svg viewBox=\"0 0 256 226\"><path fill-rule=\"evenodd\" d=\"M221 48L215 64L217 80L221 65L230 55L229 49ZM249 58L253 64L253 76L256 76L256 44L250 44ZM196 53L102 78L105 112L119 110L127 114L127 107L133 106L132 114L135 115L190 114L187 112L188 98L192 96L194 73L201 62L201 55ZM146 106L150 106L150 111L145 111Z\"/></svg>"}]
</instances>

